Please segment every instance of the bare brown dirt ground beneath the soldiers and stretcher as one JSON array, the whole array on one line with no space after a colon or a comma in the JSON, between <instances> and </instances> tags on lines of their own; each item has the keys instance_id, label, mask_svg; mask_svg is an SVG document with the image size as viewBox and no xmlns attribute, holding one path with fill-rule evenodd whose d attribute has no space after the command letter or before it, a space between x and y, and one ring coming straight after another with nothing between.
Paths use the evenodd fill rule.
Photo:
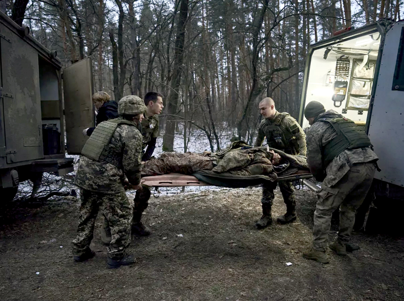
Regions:
<instances>
[{"instance_id":1,"label":"bare brown dirt ground beneath the soldiers and stretcher","mask_svg":"<svg viewBox=\"0 0 404 301\"><path fill-rule=\"evenodd\" d=\"M315 194L296 192L293 224L258 231L260 194L251 188L152 197L144 220L153 234L134 238L136 264L115 270L105 266L101 217L91 245L97 256L73 263L76 198L14 201L0 213L0 300L404 300L403 237L354 233L360 250L345 257L329 250L328 265L308 261L302 252L311 243ZM273 215L284 211L277 191Z\"/></svg>"}]
</instances>

